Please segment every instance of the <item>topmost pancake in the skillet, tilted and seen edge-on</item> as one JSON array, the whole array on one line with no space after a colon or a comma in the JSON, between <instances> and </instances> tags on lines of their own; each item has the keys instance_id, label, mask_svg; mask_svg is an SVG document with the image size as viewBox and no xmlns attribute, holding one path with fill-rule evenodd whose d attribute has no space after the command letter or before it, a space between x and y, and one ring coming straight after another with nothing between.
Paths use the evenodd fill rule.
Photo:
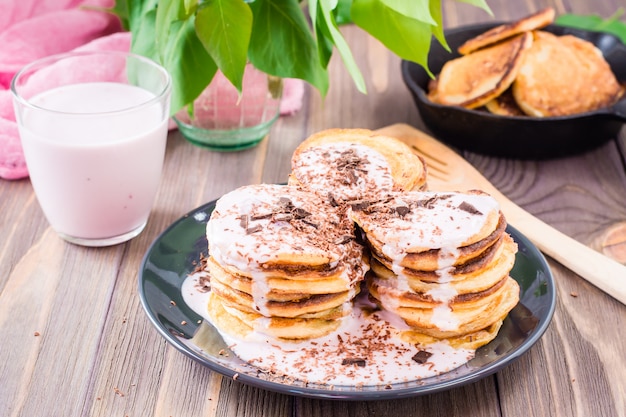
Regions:
<instances>
[{"instance_id":1,"label":"topmost pancake in the skillet, tilted and seen edge-on","mask_svg":"<svg viewBox=\"0 0 626 417\"><path fill-rule=\"evenodd\" d=\"M512 36L541 29L554 21L554 15L554 9L548 7L538 11L537 13L531 14L530 16L523 17L515 22L496 26L486 32L483 32L480 35L465 41L465 43L459 46L457 50L461 55L467 55Z\"/></svg>"}]
</instances>

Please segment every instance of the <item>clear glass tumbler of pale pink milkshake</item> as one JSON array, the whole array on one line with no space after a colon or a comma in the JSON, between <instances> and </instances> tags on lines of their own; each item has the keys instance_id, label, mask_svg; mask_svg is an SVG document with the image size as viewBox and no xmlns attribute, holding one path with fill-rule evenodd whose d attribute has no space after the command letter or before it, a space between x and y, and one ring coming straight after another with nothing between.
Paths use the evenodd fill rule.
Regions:
<instances>
[{"instance_id":1,"label":"clear glass tumbler of pale pink milkshake","mask_svg":"<svg viewBox=\"0 0 626 417\"><path fill-rule=\"evenodd\" d=\"M33 62L11 83L26 165L50 225L85 246L144 229L165 154L171 79L126 52Z\"/></svg>"}]
</instances>

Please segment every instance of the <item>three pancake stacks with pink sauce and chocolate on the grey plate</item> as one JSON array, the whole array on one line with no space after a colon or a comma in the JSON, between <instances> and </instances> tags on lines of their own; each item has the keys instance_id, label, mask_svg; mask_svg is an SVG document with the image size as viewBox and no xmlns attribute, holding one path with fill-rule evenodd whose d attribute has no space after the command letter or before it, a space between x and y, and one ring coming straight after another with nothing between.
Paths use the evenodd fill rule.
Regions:
<instances>
[{"instance_id":1,"label":"three pancake stacks with pink sauce and chocolate on the grey plate","mask_svg":"<svg viewBox=\"0 0 626 417\"><path fill-rule=\"evenodd\" d=\"M395 138L309 137L288 185L218 200L207 224L212 323L244 340L317 338L339 328L363 287L404 320L410 343L488 343L519 299L517 245L492 197L425 186L423 160Z\"/></svg>"}]
</instances>

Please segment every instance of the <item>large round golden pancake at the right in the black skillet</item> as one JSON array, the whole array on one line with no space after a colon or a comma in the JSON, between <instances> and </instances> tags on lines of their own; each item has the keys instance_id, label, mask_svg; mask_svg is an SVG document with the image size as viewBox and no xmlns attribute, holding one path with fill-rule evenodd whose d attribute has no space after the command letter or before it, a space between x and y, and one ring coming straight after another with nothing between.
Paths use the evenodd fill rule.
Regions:
<instances>
[{"instance_id":1,"label":"large round golden pancake at the right in the black skillet","mask_svg":"<svg viewBox=\"0 0 626 417\"><path fill-rule=\"evenodd\" d=\"M612 105L623 93L593 44L547 32L536 33L512 88L519 107L535 117L597 110Z\"/></svg>"}]
</instances>

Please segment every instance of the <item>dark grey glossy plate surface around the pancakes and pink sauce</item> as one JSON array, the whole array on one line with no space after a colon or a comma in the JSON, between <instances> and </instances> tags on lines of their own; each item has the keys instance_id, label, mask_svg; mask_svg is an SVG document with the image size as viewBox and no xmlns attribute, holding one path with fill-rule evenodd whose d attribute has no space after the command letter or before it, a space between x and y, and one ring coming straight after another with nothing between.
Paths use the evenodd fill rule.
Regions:
<instances>
[{"instance_id":1,"label":"dark grey glossy plate surface around the pancakes and pink sauce","mask_svg":"<svg viewBox=\"0 0 626 417\"><path fill-rule=\"evenodd\" d=\"M207 254L206 222L215 202L205 204L165 230L151 245L139 271L141 303L152 324L176 349L228 377L270 391L304 397L378 400L411 397L448 390L491 375L520 357L543 335L556 305L550 268L537 248L512 227L508 232L519 246L511 276L520 284L520 303L505 319L498 336L478 349L467 364L436 377L383 386L305 385L271 379L239 360L217 331L202 321L183 300L181 284ZM182 325L185 321L187 324ZM222 354L220 354L222 351ZM182 378L185 376L182 375Z\"/></svg>"}]
</instances>

